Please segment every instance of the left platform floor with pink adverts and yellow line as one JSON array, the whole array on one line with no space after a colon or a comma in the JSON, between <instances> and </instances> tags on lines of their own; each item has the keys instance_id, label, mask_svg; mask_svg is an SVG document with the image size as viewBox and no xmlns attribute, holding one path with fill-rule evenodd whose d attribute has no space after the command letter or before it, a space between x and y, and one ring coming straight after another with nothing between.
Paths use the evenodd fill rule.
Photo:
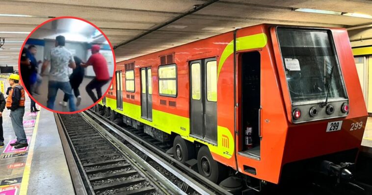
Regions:
<instances>
[{"instance_id":1,"label":"left platform floor with pink adverts and yellow line","mask_svg":"<svg viewBox=\"0 0 372 195\"><path fill-rule=\"evenodd\" d=\"M14 149L16 137L4 110L5 146L0 147L0 195L75 194L61 140L52 112L40 108L30 112L26 98L24 128L28 147Z\"/></svg>"}]
</instances>

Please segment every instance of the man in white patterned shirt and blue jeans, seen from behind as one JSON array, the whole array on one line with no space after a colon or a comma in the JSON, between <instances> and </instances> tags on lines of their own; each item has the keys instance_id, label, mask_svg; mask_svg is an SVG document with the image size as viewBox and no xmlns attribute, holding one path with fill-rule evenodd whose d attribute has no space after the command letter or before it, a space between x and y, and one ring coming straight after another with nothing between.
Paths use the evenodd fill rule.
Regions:
<instances>
[{"instance_id":1,"label":"man in white patterned shirt and blue jeans, seen from behind","mask_svg":"<svg viewBox=\"0 0 372 195\"><path fill-rule=\"evenodd\" d=\"M48 83L48 100L47 107L53 109L55 97L58 89L62 90L68 97L70 112L76 110L74 96L68 77L68 67L75 69L76 64L71 52L66 49L65 37L57 36L55 38L55 48L51 49L43 63L41 73L44 73L48 65L51 65Z\"/></svg>"}]
</instances>

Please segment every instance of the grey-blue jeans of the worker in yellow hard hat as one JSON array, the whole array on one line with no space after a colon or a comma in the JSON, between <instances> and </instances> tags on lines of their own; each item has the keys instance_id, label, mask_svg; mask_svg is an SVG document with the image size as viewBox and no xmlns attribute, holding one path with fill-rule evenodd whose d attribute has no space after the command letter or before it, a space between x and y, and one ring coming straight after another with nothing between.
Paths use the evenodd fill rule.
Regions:
<instances>
[{"instance_id":1,"label":"grey-blue jeans of the worker in yellow hard hat","mask_svg":"<svg viewBox=\"0 0 372 195\"><path fill-rule=\"evenodd\" d=\"M14 111L10 111L10 119L14 133L17 136L17 142L21 144L27 144L27 138L25 129L23 128L23 115L25 115L25 108L17 108Z\"/></svg>"}]
</instances>

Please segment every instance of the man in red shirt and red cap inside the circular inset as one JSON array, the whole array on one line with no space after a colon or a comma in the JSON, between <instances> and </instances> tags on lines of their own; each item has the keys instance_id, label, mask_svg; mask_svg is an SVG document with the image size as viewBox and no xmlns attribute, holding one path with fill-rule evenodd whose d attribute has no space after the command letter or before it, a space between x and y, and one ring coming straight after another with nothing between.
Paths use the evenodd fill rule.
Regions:
<instances>
[{"instance_id":1,"label":"man in red shirt and red cap inside the circular inset","mask_svg":"<svg viewBox=\"0 0 372 195\"><path fill-rule=\"evenodd\" d=\"M84 64L81 63L80 66L85 68L87 66L92 65L93 71L96 74L96 77L90 81L85 90L92 98L93 102L98 101L102 97L102 86L104 86L110 80L110 74L108 73L108 67L105 57L100 53L100 46L93 45L92 46L92 55L89 57L88 61ZM97 97L93 93L93 89L97 91Z\"/></svg>"}]
</instances>

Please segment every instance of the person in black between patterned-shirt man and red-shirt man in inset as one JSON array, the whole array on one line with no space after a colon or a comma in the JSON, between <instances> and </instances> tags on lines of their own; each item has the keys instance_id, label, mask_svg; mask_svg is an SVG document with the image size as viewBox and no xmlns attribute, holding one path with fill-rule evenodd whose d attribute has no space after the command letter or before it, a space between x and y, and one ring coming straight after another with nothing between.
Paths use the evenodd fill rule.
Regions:
<instances>
[{"instance_id":1,"label":"person in black between patterned-shirt man and red-shirt man in inset","mask_svg":"<svg viewBox=\"0 0 372 195\"><path fill-rule=\"evenodd\" d=\"M84 68L80 66L81 59L79 57L74 56L74 60L76 64L76 69L74 69L72 74L70 75L70 84L72 89L74 90L74 95L76 97L76 106L79 106L81 102L79 86L82 82L82 79L84 78ZM65 94L63 97L63 101L59 102L59 104L61 104L64 107L67 106L68 99L69 99L68 95Z\"/></svg>"}]
</instances>

